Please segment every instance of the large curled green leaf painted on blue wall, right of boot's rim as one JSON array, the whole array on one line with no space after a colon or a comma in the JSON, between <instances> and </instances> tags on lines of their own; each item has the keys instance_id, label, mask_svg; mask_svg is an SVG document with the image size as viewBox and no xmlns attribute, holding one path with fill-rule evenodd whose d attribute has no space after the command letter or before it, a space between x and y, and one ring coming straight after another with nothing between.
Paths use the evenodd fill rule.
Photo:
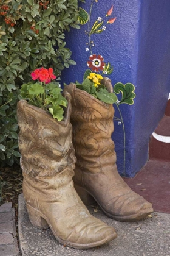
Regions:
<instances>
[{"instance_id":1,"label":"large curled green leaf painted on blue wall, right of boot's rim","mask_svg":"<svg viewBox=\"0 0 170 256\"><path fill-rule=\"evenodd\" d=\"M119 94L121 92L122 98L119 104L128 104L128 105L133 105L134 104L134 98L136 94L134 93L135 87L131 83L127 84L122 84L122 83L117 83L114 86L114 92Z\"/></svg>"}]
</instances>

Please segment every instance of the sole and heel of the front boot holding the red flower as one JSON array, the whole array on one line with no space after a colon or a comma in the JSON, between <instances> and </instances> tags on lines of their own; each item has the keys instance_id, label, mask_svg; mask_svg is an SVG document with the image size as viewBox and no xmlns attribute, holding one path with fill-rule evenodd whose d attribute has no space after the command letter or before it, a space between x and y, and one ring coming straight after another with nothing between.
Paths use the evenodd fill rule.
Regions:
<instances>
[{"instance_id":1,"label":"sole and heel of the front boot holding the red flower","mask_svg":"<svg viewBox=\"0 0 170 256\"><path fill-rule=\"evenodd\" d=\"M36 210L35 208L33 208L31 205L27 203L26 203L26 207L27 207L27 212L29 214L30 222L32 223L33 226L37 227L38 229L47 229L48 227L50 227L53 235L55 236L56 240L59 243L64 244L66 246L73 247L75 249L90 249L90 248L102 246L103 244L109 243L110 241L114 240L117 237L117 234L113 233L107 238L104 238L103 240L100 240L94 243L89 243L89 244L72 243L72 242L63 240L56 235L55 231L53 230L50 224L50 221L46 218L45 215L43 215L43 213L39 212L38 210Z\"/></svg>"}]
</instances>

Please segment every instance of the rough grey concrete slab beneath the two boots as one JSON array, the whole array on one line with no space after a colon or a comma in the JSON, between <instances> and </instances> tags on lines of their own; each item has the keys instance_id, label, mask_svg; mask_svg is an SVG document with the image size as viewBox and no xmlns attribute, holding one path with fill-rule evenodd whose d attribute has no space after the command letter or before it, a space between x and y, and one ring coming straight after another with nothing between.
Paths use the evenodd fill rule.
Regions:
<instances>
[{"instance_id":1,"label":"rough grey concrete slab beneath the two boots","mask_svg":"<svg viewBox=\"0 0 170 256\"><path fill-rule=\"evenodd\" d=\"M114 226L118 237L97 249L83 251L64 247L50 229L39 230L30 224L21 194L18 215L22 256L170 256L170 214L152 213L152 218L126 223L107 218L101 210L95 213L92 207L89 211Z\"/></svg>"}]
</instances>

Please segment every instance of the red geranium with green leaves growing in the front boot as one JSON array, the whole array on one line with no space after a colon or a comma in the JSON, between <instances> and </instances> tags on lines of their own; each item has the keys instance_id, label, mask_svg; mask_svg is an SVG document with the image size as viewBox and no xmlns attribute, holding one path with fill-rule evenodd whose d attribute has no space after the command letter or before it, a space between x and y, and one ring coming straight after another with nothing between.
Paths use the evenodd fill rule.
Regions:
<instances>
[{"instance_id":1,"label":"red geranium with green leaves growing in the front boot","mask_svg":"<svg viewBox=\"0 0 170 256\"><path fill-rule=\"evenodd\" d=\"M38 80L38 82L22 85L22 99L27 99L29 104L49 111L53 118L58 119L58 121L63 120L63 107L67 107L67 100L61 95L62 89L59 83L53 81L56 79L53 69L35 69L31 76L33 80Z\"/></svg>"}]
</instances>

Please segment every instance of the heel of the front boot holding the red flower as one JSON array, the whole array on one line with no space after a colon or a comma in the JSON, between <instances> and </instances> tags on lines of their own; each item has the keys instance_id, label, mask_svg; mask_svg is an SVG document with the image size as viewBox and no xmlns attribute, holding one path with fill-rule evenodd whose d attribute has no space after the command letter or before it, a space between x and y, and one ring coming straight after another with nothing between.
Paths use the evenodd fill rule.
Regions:
<instances>
[{"instance_id":1,"label":"heel of the front boot holding the red flower","mask_svg":"<svg viewBox=\"0 0 170 256\"><path fill-rule=\"evenodd\" d=\"M48 229L49 224L47 223L46 219L42 218L39 212L30 205L26 204L26 207L32 225L38 227L38 229Z\"/></svg>"}]
</instances>

